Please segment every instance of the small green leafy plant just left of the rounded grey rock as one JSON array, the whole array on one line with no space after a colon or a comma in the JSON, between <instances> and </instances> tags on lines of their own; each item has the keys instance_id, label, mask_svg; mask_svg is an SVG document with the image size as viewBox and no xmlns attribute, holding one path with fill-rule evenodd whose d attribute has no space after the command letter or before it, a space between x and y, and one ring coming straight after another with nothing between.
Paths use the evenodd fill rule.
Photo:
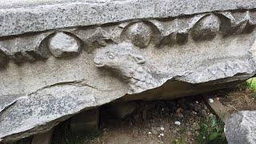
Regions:
<instances>
[{"instance_id":1,"label":"small green leafy plant just left of the rounded grey rock","mask_svg":"<svg viewBox=\"0 0 256 144\"><path fill-rule=\"evenodd\" d=\"M196 140L202 144L226 144L224 123L211 115L206 122L199 124L199 134Z\"/></svg>"}]
</instances>

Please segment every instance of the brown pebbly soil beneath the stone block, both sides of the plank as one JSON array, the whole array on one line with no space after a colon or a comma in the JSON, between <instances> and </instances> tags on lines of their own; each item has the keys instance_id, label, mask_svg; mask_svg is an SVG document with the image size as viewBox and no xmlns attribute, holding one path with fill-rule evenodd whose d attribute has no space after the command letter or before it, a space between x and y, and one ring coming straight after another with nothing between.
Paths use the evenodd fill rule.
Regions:
<instances>
[{"instance_id":1,"label":"brown pebbly soil beneath the stone block, both sides of the plank","mask_svg":"<svg viewBox=\"0 0 256 144\"><path fill-rule=\"evenodd\" d=\"M245 86L217 91L210 95L218 97L231 114L238 110L256 110L253 93ZM66 121L55 128L52 143L198 143L196 139L199 124L206 122L211 114L202 95L173 101L140 101L136 110L124 119L114 118L103 107L98 134L74 138ZM181 124L177 125L175 122Z\"/></svg>"}]
</instances>

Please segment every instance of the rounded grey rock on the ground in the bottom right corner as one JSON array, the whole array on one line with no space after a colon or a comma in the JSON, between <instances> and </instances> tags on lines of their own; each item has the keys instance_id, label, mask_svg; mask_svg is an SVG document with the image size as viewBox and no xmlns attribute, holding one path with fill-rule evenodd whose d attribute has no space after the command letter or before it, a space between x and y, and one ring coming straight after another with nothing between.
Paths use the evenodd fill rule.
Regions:
<instances>
[{"instance_id":1,"label":"rounded grey rock on the ground in the bottom right corner","mask_svg":"<svg viewBox=\"0 0 256 144\"><path fill-rule=\"evenodd\" d=\"M230 144L256 142L256 111L239 111L226 120L225 134Z\"/></svg>"}]
</instances>

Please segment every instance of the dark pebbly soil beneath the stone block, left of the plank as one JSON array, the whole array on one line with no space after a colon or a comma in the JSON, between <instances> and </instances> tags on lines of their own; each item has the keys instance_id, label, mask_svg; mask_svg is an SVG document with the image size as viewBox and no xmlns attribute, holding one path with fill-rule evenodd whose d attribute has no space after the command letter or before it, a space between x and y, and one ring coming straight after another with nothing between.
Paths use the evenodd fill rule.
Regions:
<instances>
[{"instance_id":1,"label":"dark pebbly soil beneath the stone block, left of the plank","mask_svg":"<svg viewBox=\"0 0 256 144\"><path fill-rule=\"evenodd\" d=\"M111 117L104 110L101 114L100 133L84 138L83 143L197 143L198 124L211 113L203 98L197 96L173 101L138 102L138 108L125 119ZM175 122L181 124L178 126ZM65 127L62 124L57 130L68 133ZM69 134L64 133L54 134L52 143L69 141L66 140Z\"/></svg>"}]
</instances>

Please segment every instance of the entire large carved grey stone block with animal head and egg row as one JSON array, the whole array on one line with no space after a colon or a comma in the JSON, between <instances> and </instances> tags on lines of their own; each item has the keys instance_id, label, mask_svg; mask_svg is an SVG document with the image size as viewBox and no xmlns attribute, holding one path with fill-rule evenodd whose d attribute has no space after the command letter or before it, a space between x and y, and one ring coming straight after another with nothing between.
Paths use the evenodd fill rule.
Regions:
<instances>
[{"instance_id":1,"label":"entire large carved grey stone block with animal head and egg row","mask_svg":"<svg viewBox=\"0 0 256 144\"><path fill-rule=\"evenodd\" d=\"M178 98L256 73L254 1L44 2L0 5L2 142L118 98Z\"/></svg>"}]
</instances>

